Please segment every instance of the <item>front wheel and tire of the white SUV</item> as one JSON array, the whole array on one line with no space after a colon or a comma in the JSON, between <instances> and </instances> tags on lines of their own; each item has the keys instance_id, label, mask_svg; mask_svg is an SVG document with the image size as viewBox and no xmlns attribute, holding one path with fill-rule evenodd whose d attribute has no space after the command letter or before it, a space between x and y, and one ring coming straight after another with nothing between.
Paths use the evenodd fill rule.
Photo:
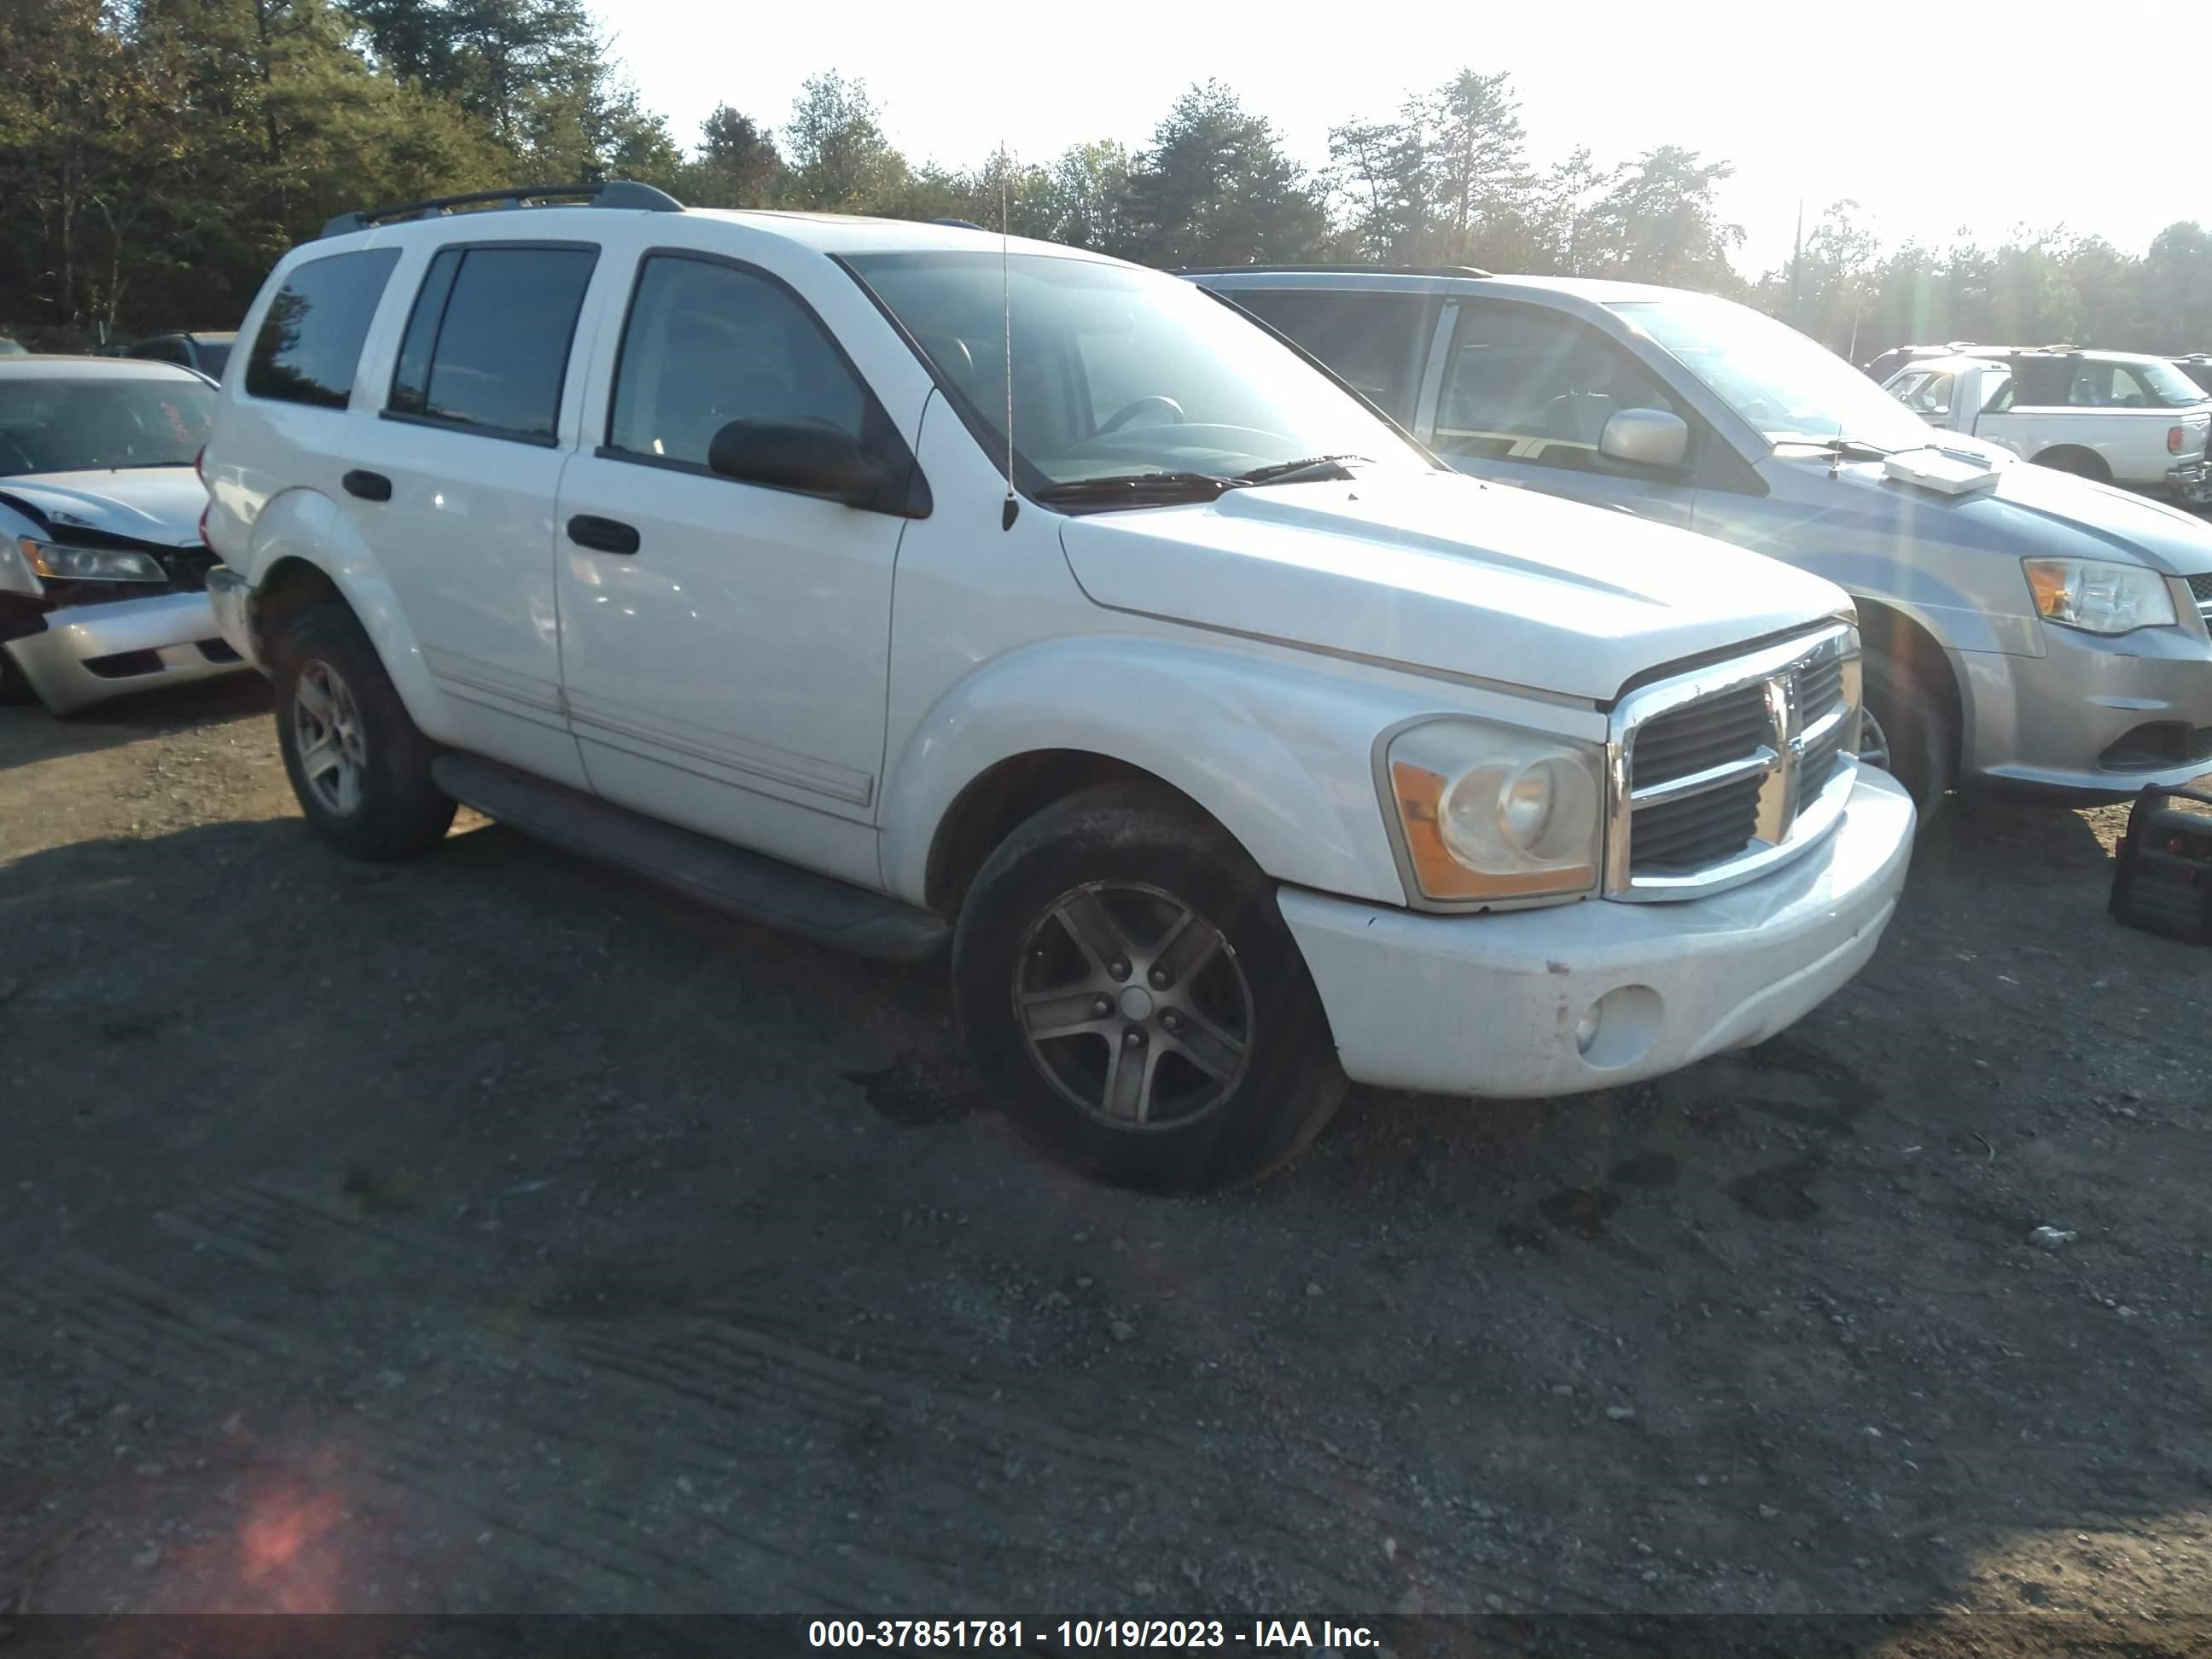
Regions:
<instances>
[{"instance_id":1,"label":"front wheel and tire of the white SUV","mask_svg":"<svg viewBox=\"0 0 2212 1659\"><path fill-rule=\"evenodd\" d=\"M1265 1175L1347 1091L1274 883L1157 790L1084 790L991 854L953 1002L1022 1128L1117 1186Z\"/></svg>"}]
</instances>

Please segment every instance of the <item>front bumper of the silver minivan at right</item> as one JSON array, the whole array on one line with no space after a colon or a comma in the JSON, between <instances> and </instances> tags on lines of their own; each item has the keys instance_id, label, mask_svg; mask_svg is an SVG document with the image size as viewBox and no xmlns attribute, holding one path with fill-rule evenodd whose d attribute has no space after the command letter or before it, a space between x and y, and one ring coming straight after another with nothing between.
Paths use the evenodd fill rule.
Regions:
<instances>
[{"instance_id":1,"label":"front bumper of the silver minivan at right","mask_svg":"<svg viewBox=\"0 0 2212 1659\"><path fill-rule=\"evenodd\" d=\"M2110 799L2212 772L2212 635L2170 586L2177 628L2099 639L2044 624L2039 657L1953 650L1973 706L1966 779Z\"/></svg>"}]
</instances>

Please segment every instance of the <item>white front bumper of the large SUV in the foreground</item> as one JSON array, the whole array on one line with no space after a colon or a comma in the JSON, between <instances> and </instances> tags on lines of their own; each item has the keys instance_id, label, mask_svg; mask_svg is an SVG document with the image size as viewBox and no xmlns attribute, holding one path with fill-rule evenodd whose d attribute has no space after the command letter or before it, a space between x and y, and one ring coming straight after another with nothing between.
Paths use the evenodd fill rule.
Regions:
<instances>
[{"instance_id":1,"label":"white front bumper of the large SUV in the foreground","mask_svg":"<svg viewBox=\"0 0 2212 1659\"><path fill-rule=\"evenodd\" d=\"M1863 770L1825 843L1710 898L1420 916L1285 887L1281 905L1354 1082L1573 1095L1747 1048L1818 1006L1874 956L1911 845L1911 799Z\"/></svg>"}]
</instances>

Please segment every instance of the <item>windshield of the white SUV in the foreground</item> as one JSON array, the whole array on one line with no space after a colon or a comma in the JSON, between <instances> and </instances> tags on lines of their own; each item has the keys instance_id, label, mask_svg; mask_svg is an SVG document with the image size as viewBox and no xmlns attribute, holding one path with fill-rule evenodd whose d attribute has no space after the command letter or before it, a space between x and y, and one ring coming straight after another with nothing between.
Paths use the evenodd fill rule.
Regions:
<instances>
[{"instance_id":1,"label":"windshield of the white SUV in the foreground","mask_svg":"<svg viewBox=\"0 0 2212 1659\"><path fill-rule=\"evenodd\" d=\"M1203 290L1097 259L995 252L845 261L905 323L1015 482L1234 478L1316 456L1427 460L1358 398ZM1006 299L1011 290L1011 301Z\"/></svg>"}]
</instances>

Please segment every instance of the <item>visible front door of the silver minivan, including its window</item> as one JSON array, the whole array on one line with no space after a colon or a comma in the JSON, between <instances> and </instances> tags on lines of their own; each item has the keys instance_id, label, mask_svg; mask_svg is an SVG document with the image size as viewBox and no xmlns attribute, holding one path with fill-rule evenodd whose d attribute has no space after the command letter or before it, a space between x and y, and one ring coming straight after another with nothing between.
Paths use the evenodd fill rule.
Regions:
<instances>
[{"instance_id":1,"label":"visible front door of the silver minivan, including its window","mask_svg":"<svg viewBox=\"0 0 2212 1659\"><path fill-rule=\"evenodd\" d=\"M1517 301L1460 301L1431 447L1464 473L1548 495L1688 524L1697 491L1677 469L1617 462L1599 449L1621 409L1697 418L1648 367L1564 312Z\"/></svg>"}]
</instances>

